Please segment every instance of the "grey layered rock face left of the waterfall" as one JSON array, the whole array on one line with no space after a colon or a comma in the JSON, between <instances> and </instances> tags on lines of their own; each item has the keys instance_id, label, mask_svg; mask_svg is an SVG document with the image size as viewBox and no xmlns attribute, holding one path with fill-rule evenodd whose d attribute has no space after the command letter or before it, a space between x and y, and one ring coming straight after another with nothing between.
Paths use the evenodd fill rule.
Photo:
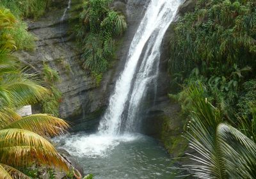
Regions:
<instances>
[{"instance_id":1,"label":"grey layered rock face left of the waterfall","mask_svg":"<svg viewBox=\"0 0 256 179\"><path fill-rule=\"evenodd\" d=\"M111 7L120 10L127 17L128 29L118 39L120 47L116 59L102 82L97 86L95 79L79 66L81 49L71 38L72 21L77 20L83 0L55 0L44 17L28 21L29 31L38 39L33 52L21 52L24 63L41 73L43 63L56 70L61 77L58 88L63 93L60 117L71 122L72 130L95 130L100 116L106 109L108 98L114 88L116 78L122 70L129 45L143 16L148 1L115 1Z\"/></svg>"}]
</instances>

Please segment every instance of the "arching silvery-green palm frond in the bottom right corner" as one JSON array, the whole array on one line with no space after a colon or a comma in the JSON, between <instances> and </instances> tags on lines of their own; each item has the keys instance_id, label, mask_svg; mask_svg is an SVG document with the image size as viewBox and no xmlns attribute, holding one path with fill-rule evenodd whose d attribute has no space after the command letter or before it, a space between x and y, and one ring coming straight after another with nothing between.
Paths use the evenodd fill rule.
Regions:
<instances>
[{"instance_id":1,"label":"arching silvery-green palm frond in the bottom right corner","mask_svg":"<svg viewBox=\"0 0 256 179\"><path fill-rule=\"evenodd\" d=\"M229 175L232 178L255 178L256 144L236 128L223 123L218 126L217 135Z\"/></svg>"}]
</instances>

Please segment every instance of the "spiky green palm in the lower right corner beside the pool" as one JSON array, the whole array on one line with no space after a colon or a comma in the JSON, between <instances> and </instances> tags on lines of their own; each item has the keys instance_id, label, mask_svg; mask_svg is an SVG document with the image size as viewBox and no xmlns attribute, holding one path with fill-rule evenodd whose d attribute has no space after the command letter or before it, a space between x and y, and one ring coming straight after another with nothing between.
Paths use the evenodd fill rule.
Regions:
<instances>
[{"instance_id":1,"label":"spiky green palm in the lower right corner beside the pool","mask_svg":"<svg viewBox=\"0 0 256 179\"><path fill-rule=\"evenodd\" d=\"M189 154L189 158L197 164L185 167L195 172L192 176L255 178L256 144L227 124L225 115L204 98L202 87L192 86L188 93L194 111L185 137L196 152L196 155Z\"/></svg>"}]
</instances>

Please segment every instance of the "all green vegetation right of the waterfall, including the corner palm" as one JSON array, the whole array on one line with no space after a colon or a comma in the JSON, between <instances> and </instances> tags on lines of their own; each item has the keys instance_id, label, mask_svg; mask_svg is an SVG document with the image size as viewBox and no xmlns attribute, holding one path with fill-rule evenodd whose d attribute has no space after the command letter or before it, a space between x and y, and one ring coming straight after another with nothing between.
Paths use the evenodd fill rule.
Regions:
<instances>
[{"instance_id":1,"label":"all green vegetation right of the waterfall, including the corner palm","mask_svg":"<svg viewBox=\"0 0 256 179\"><path fill-rule=\"evenodd\" d=\"M170 98L188 121L195 178L255 178L255 10L251 0L200 0L173 28Z\"/></svg>"}]
</instances>

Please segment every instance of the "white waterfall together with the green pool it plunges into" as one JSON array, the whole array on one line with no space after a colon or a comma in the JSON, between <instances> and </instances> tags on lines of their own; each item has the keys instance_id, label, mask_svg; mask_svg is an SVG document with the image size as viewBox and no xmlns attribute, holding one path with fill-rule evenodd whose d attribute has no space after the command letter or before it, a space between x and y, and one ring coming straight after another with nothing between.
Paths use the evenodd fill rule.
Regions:
<instances>
[{"instance_id":1,"label":"white waterfall together with the green pool it plunges into","mask_svg":"<svg viewBox=\"0 0 256 179\"><path fill-rule=\"evenodd\" d=\"M151 0L148 4L99 132L54 139L96 179L172 178L172 161L163 146L136 132L141 100L149 86L156 85L161 43L179 4L180 0Z\"/></svg>"}]
</instances>

